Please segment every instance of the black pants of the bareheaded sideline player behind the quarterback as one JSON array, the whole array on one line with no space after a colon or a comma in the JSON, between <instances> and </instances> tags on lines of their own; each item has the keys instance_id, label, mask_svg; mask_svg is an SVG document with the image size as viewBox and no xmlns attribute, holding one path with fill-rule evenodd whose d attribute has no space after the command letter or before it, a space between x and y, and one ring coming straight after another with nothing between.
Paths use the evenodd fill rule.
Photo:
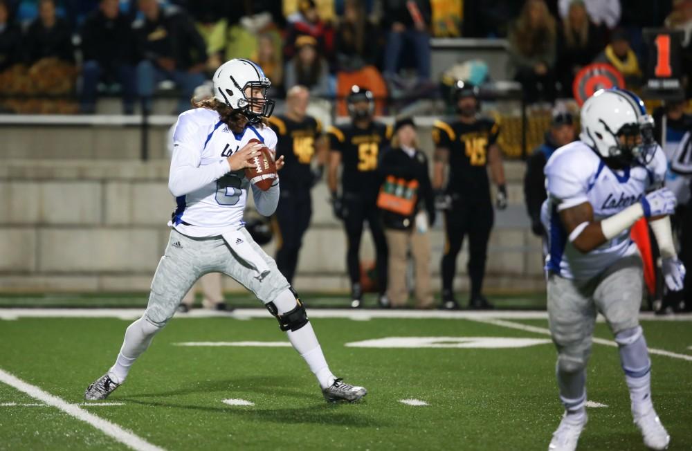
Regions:
<instances>
[{"instance_id":1,"label":"black pants of the bareheaded sideline player behind the quarterback","mask_svg":"<svg viewBox=\"0 0 692 451\"><path fill-rule=\"evenodd\" d=\"M276 266L293 283L302 237L310 225L312 198L309 188L286 189L282 187L275 213L277 232Z\"/></svg>"}]
</instances>

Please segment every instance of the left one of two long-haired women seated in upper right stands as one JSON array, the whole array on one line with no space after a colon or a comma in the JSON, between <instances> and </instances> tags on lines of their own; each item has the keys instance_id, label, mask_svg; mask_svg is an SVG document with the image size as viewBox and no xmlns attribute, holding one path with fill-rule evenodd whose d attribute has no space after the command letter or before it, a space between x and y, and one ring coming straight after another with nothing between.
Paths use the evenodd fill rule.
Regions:
<instances>
[{"instance_id":1,"label":"left one of two long-haired women seated in upper right stands","mask_svg":"<svg viewBox=\"0 0 692 451\"><path fill-rule=\"evenodd\" d=\"M509 31L509 59L514 80L520 82L527 102L554 99L556 24L544 0L527 0Z\"/></svg>"}]
</instances>

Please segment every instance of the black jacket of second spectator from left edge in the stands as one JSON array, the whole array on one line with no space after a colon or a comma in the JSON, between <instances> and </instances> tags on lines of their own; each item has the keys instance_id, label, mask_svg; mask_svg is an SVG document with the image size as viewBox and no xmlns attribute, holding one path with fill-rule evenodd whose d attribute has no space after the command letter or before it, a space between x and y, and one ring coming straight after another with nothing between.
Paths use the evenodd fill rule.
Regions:
<instances>
[{"instance_id":1,"label":"black jacket of second spectator from left edge in the stands","mask_svg":"<svg viewBox=\"0 0 692 451\"><path fill-rule=\"evenodd\" d=\"M25 59L29 64L51 57L70 63L75 61L70 26L60 17L53 28L46 28L41 19L36 19L26 30L24 41Z\"/></svg>"}]
</instances>

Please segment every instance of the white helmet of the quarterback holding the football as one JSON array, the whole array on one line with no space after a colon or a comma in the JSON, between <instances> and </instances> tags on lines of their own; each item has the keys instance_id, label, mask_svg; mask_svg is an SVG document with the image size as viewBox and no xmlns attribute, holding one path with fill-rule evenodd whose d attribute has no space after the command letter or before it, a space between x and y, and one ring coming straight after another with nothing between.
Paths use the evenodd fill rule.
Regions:
<instances>
[{"instance_id":1,"label":"white helmet of the quarterback holding the football","mask_svg":"<svg viewBox=\"0 0 692 451\"><path fill-rule=\"evenodd\" d=\"M233 109L240 110L250 122L268 118L274 111L274 101L266 98L271 82L262 68L249 59L235 58L221 64L214 73L214 98ZM246 94L247 88L262 89L262 97Z\"/></svg>"}]
</instances>

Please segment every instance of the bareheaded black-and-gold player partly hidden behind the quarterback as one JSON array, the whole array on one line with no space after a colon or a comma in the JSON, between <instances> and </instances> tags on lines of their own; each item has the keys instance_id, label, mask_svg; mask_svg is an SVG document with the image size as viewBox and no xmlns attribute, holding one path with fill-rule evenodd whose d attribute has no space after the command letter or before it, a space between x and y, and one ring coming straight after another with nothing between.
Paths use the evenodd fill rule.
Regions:
<instances>
[{"instance_id":1,"label":"bareheaded black-and-gold player partly hidden behind the quarterback","mask_svg":"<svg viewBox=\"0 0 692 451\"><path fill-rule=\"evenodd\" d=\"M286 113L271 116L269 126L276 132L276 158L284 156L281 192L273 217L277 236L276 266L293 284L302 239L312 217L311 188L322 176L324 155L322 125L307 115L310 93L293 86L286 93ZM313 165L317 160L318 165Z\"/></svg>"}]
</instances>

